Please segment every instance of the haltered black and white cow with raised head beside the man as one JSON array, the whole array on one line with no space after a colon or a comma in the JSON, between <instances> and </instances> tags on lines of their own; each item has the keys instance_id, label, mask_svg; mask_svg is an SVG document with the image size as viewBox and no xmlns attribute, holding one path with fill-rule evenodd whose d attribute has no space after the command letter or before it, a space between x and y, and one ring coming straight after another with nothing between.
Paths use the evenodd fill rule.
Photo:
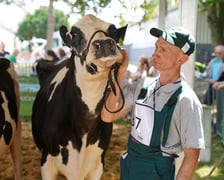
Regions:
<instances>
[{"instance_id":1,"label":"haltered black and white cow with raised head beside the man","mask_svg":"<svg viewBox=\"0 0 224 180\"><path fill-rule=\"evenodd\" d=\"M122 59L117 43L126 28L86 15L69 32L60 28L71 58L37 65L40 90L32 132L44 180L56 179L58 173L69 180L100 179L112 134L112 124L104 123L100 113L108 73Z\"/></svg>"}]
</instances>

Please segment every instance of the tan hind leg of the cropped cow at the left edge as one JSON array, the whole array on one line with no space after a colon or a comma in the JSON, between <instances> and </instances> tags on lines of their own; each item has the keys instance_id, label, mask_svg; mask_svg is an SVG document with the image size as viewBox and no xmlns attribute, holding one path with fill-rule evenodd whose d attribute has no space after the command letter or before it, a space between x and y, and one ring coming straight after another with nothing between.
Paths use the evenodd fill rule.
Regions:
<instances>
[{"instance_id":1,"label":"tan hind leg of the cropped cow at the left edge","mask_svg":"<svg viewBox=\"0 0 224 180\"><path fill-rule=\"evenodd\" d=\"M18 120L15 135L10 146L10 153L13 161L15 180L21 180L22 174L22 153L21 153L21 120Z\"/></svg>"}]
</instances>

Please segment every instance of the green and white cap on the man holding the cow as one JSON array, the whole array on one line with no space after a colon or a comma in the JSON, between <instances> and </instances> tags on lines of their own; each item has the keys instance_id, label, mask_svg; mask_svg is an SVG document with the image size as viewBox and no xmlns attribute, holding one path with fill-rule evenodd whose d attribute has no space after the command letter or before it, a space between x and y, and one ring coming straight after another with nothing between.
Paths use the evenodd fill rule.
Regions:
<instances>
[{"instance_id":1,"label":"green and white cap on the man holding the cow","mask_svg":"<svg viewBox=\"0 0 224 180\"><path fill-rule=\"evenodd\" d=\"M150 34L155 37L162 37L168 43L179 47L184 54L190 55L195 49L195 39L193 35L183 27L173 27L167 31L152 28Z\"/></svg>"}]
</instances>

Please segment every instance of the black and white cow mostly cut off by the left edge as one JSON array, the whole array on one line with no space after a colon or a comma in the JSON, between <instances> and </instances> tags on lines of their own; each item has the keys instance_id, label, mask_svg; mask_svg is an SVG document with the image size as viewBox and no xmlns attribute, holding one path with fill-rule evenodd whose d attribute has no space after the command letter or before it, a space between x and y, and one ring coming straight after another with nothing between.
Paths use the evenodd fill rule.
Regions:
<instances>
[{"instance_id":1,"label":"black and white cow mostly cut off by the left edge","mask_svg":"<svg viewBox=\"0 0 224 180\"><path fill-rule=\"evenodd\" d=\"M10 151L15 180L21 179L21 121L19 86L14 65L0 58L0 156Z\"/></svg>"}]
</instances>

